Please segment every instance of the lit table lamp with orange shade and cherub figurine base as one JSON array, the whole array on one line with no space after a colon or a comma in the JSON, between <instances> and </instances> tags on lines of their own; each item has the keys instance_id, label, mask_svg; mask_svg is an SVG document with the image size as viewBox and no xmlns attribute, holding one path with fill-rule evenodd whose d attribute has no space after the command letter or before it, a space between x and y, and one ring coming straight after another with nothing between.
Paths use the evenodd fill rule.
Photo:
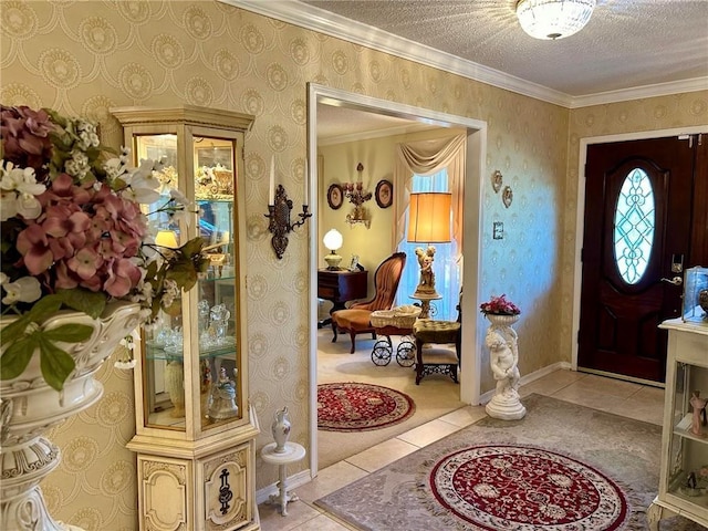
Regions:
<instances>
[{"instance_id":1,"label":"lit table lamp with orange shade and cherub figurine base","mask_svg":"<svg viewBox=\"0 0 708 531\"><path fill-rule=\"evenodd\" d=\"M433 261L435 247L430 243L447 243L450 241L450 211L452 194L420 192L410 194L407 240L413 243L426 243L427 247L416 248L416 256L420 264L420 281L413 295L438 298L435 291L435 273Z\"/></svg>"}]
</instances>

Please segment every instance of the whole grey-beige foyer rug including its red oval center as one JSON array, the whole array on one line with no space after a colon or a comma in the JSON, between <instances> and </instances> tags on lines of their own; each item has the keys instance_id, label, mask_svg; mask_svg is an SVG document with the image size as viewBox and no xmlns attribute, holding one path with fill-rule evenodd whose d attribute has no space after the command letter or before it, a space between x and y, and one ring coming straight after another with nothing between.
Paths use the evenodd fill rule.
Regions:
<instances>
[{"instance_id":1,"label":"whole grey-beige foyer rug including its red oval center","mask_svg":"<svg viewBox=\"0 0 708 531\"><path fill-rule=\"evenodd\" d=\"M369 531L646 531L660 426L542 395L315 501ZM683 517L662 531L705 531Z\"/></svg>"}]
</instances>

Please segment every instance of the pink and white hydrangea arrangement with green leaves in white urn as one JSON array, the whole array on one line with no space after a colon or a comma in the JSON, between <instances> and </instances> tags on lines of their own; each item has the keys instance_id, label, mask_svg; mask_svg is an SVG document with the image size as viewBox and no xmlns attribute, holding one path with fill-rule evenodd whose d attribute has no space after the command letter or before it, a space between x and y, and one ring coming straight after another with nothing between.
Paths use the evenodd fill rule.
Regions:
<instances>
[{"instance_id":1,"label":"pink and white hydrangea arrangement with green leaves in white urn","mask_svg":"<svg viewBox=\"0 0 708 531\"><path fill-rule=\"evenodd\" d=\"M0 105L0 314L17 316L0 331L0 376L22 374L39 350L44 379L61 389L75 364L55 342L85 341L91 327L49 335L39 323L61 309L97 319L116 300L139 303L143 320L154 320L178 304L208 259L200 238L179 249L155 244L148 216L194 214L178 190L152 212L140 208L162 201L159 162L132 167L127 149L111 157L95 124L52 110Z\"/></svg>"}]
</instances>

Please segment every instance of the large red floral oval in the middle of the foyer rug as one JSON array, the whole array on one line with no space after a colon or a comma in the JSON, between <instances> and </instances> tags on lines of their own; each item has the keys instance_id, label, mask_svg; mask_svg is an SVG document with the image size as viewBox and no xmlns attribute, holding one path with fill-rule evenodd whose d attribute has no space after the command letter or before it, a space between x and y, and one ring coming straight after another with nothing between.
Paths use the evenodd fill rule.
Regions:
<instances>
[{"instance_id":1,"label":"large red floral oval in the middle of the foyer rug","mask_svg":"<svg viewBox=\"0 0 708 531\"><path fill-rule=\"evenodd\" d=\"M524 446L451 454L433 468L430 488L457 517L491 531L617 530L628 511L622 489L602 472Z\"/></svg>"}]
</instances>

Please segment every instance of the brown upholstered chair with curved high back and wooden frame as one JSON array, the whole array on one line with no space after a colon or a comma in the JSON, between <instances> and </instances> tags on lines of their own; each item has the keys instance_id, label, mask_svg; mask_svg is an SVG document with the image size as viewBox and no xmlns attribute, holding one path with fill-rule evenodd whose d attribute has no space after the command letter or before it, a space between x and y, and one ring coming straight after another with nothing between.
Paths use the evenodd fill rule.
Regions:
<instances>
[{"instance_id":1,"label":"brown upholstered chair with curved high back and wooden frame","mask_svg":"<svg viewBox=\"0 0 708 531\"><path fill-rule=\"evenodd\" d=\"M337 332L348 332L352 339L352 350L350 352L354 354L356 334L371 332L372 337L376 339L376 330L369 321L371 314L378 310L392 309L405 264L405 252L395 252L381 262L376 273L374 273L374 289L376 291L374 298L367 302L354 303L350 308L337 310L332 314L332 332L334 332L332 343L336 342Z\"/></svg>"}]
</instances>

